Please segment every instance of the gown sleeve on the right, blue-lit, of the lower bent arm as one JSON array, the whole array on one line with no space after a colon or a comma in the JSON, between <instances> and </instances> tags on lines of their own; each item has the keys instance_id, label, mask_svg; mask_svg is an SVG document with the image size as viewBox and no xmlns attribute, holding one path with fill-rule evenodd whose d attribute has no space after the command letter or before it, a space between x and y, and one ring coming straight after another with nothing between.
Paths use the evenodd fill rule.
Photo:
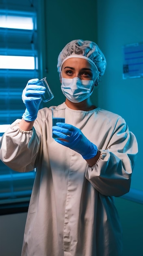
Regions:
<instances>
[{"instance_id":1,"label":"gown sleeve on the right, blue-lit, of the lower bent arm","mask_svg":"<svg viewBox=\"0 0 143 256\"><path fill-rule=\"evenodd\" d=\"M118 197L128 193L138 146L124 119L117 120L107 147L100 152L96 164L87 166L87 180L106 196Z\"/></svg>"}]
</instances>

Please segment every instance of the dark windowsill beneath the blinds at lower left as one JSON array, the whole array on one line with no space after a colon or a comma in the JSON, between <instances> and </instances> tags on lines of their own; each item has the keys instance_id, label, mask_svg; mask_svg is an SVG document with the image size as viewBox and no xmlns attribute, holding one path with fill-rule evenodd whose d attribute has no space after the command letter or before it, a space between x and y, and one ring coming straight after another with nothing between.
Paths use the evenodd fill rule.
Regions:
<instances>
[{"instance_id":1,"label":"dark windowsill beneath the blinds at lower left","mask_svg":"<svg viewBox=\"0 0 143 256\"><path fill-rule=\"evenodd\" d=\"M0 215L24 213L28 211L29 202L0 204Z\"/></svg>"}]
</instances>

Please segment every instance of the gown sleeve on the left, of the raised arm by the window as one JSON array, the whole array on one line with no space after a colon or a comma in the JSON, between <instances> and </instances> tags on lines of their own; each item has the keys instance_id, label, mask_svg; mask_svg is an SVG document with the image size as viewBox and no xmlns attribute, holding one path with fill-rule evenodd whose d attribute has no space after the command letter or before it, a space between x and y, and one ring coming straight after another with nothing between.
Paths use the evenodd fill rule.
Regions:
<instances>
[{"instance_id":1,"label":"gown sleeve on the left, of the raised arm by the window","mask_svg":"<svg viewBox=\"0 0 143 256\"><path fill-rule=\"evenodd\" d=\"M35 168L41 141L40 133L19 128L20 119L11 124L0 141L0 159L14 171L28 172Z\"/></svg>"}]
</instances>

